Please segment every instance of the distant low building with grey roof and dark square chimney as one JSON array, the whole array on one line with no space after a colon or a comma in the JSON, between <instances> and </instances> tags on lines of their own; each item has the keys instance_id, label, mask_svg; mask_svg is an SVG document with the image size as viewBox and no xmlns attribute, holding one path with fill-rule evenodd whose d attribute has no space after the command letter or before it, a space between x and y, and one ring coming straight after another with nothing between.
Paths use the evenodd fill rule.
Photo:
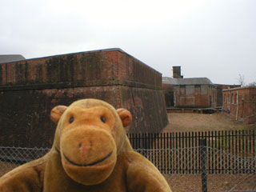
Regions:
<instances>
[{"instance_id":1,"label":"distant low building with grey roof and dark square chimney","mask_svg":"<svg viewBox=\"0 0 256 192\"><path fill-rule=\"evenodd\" d=\"M217 106L217 86L209 78L183 78L180 71L180 67L174 66L173 77L176 78L162 78L167 107L214 108Z\"/></svg>"}]
</instances>

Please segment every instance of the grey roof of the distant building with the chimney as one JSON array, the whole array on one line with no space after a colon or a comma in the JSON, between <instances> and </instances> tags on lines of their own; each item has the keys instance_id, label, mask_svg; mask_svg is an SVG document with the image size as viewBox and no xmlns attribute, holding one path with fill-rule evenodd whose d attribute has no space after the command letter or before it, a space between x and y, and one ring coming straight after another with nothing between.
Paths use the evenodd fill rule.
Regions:
<instances>
[{"instance_id":1,"label":"grey roof of the distant building with the chimney","mask_svg":"<svg viewBox=\"0 0 256 192\"><path fill-rule=\"evenodd\" d=\"M214 85L209 78L162 78L162 83L179 85Z\"/></svg>"}]
</instances>

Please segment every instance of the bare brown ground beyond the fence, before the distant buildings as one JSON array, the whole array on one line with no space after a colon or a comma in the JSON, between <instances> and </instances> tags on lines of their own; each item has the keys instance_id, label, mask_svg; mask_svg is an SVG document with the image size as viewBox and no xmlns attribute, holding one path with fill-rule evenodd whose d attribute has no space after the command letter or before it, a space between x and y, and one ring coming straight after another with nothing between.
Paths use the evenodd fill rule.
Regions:
<instances>
[{"instance_id":1,"label":"bare brown ground beyond the fence, before the distant buildings","mask_svg":"<svg viewBox=\"0 0 256 192\"><path fill-rule=\"evenodd\" d=\"M183 132L202 130L245 130L256 129L254 125L235 122L225 114L168 114L169 125L163 132Z\"/></svg>"}]
</instances>

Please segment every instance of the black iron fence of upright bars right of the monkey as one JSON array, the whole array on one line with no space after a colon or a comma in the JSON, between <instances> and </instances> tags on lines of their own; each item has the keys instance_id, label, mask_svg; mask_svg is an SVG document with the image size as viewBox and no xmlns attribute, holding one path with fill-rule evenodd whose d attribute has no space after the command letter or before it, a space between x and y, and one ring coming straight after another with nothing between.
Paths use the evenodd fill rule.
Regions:
<instances>
[{"instance_id":1,"label":"black iron fence of upright bars right of the monkey","mask_svg":"<svg viewBox=\"0 0 256 192\"><path fill-rule=\"evenodd\" d=\"M164 174L200 174L200 139L205 140L208 174L256 173L256 131L128 134L135 150Z\"/></svg>"}]
</instances>

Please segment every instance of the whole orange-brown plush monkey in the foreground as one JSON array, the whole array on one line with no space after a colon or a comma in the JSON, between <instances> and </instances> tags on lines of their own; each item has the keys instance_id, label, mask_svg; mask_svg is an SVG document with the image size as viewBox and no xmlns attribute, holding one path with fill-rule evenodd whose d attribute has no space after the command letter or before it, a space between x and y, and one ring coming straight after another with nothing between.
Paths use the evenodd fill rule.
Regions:
<instances>
[{"instance_id":1,"label":"whole orange-brown plush monkey in the foreground","mask_svg":"<svg viewBox=\"0 0 256 192\"><path fill-rule=\"evenodd\" d=\"M52 149L0 178L0 191L170 192L157 168L130 146L128 110L96 99L57 106Z\"/></svg>"}]
</instances>

